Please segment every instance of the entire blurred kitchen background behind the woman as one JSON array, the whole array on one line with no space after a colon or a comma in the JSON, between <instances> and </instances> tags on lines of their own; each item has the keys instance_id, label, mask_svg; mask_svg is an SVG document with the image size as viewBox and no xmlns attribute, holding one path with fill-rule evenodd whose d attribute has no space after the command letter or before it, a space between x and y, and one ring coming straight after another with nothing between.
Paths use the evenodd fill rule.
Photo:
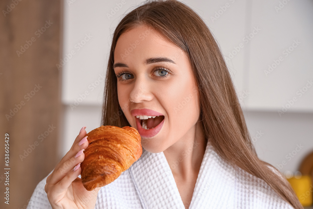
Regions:
<instances>
[{"instance_id":1,"label":"entire blurred kitchen background behind the woman","mask_svg":"<svg viewBox=\"0 0 313 209\"><path fill-rule=\"evenodd\" d=\"M80 129L101 125L112 34L141 2L0 1L0 208L26 208ZM182 2L220 46L259 158L312 175L313 1ZM298 196L312 195L306 186Z\"/></svg>"}]
</instances>

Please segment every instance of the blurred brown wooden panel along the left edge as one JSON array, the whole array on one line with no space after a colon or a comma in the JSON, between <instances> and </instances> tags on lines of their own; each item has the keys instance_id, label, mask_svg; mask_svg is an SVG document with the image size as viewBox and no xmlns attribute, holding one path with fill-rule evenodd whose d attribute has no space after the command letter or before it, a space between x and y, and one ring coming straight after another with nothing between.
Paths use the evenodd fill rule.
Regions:
<instances>
[{"instance_id":1,"label":"blurred brown wooden panel along the left edge","mask_svg":"<svg viewBox=\"0 0 313 209\"><path fill-rule=\"evenodd\" d=\"M0 5L0 208L26 208L38 182L60 160L61 70L56 63L62 5L59 0L7 0ZM10 137L9 166L4 165L5 133ZM9 206L3 199L4 167L10 168Z\"/></svg>"}]
</instances>

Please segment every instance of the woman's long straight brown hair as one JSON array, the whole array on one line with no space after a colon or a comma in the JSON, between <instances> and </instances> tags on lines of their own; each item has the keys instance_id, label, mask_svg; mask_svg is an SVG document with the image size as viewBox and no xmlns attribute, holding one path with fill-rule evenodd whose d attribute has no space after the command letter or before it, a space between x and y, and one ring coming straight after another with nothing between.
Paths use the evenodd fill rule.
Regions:
<instances>
[{"instance_id":1,"label":"woman's long straight brown hair","mask_svg":"<svg viewBox=\"0 0 313 209\"><path fill-rule=\"evenodd\" d=\"M114 49L122 33L139 25L154 28L189 56L198 85L204 136L210 136L218 154L234 168L238 166L264 180L296 209L303 208L288 181L268 166L280 171L258 158L218 44L198 14L182 2L145 1L117 25L106 73L101 124L130 126L118 102Z\"/></svg>"}]
</instances>

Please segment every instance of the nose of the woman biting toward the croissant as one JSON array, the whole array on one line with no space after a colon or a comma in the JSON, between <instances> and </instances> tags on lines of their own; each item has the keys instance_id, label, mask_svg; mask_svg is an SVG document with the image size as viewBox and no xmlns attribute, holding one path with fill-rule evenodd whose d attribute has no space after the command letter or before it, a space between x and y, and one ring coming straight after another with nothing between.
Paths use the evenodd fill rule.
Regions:
<instances>
[{"instance_id":1,"label":"nose of the woman biting toward the croissant","mask_svg":"<svg viewBox=\"0 0 313 209\"><path fill-rule=\"evenodd\" d=\"M134 84L134 88L131 90L129 99L131 102L140 103L142 101L150 101L153 95L150 91L151 87L148 81L142 81L137 79Z\"/></svg>"}]
</instances>

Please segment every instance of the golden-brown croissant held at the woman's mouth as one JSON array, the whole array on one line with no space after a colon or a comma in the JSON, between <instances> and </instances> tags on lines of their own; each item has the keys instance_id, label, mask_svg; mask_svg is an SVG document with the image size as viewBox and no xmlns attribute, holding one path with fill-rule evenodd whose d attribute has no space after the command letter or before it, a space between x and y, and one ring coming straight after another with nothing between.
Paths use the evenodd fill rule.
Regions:
<instances>
[{"instance_id":1,"label":"golden-brown croissant held at the woman's mouth","mask_svg":"<svg viewBox=\"0 0 313 209\"><path fill-rule=\"evenodd\" d=\"M141 157L141 137L133 127L101 126L85 136L89 145L80 175L88 191L110 184Z\"/></svg>"}]
</instances>

